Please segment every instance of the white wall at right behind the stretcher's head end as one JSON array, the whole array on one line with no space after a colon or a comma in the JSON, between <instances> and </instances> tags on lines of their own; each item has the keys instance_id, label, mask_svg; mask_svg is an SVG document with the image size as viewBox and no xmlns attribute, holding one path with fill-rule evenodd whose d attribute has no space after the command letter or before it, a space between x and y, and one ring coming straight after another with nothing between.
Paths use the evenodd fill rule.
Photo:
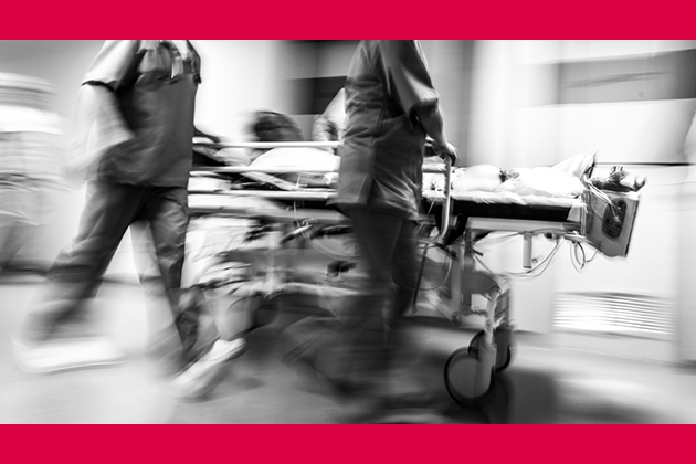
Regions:
<instances>
[{"instance_id":1,"label":"white wall at right behind the stretcher's head end","mask_svg":"<svg viewBox=\"0 0 696 464\"><path fill-rule=\"evenodd\" d=\"M696 95L688 88L692 60L668 61L672 52L690 56L694 48L694 41L476 43L471 164L548 166L598 150L597 175L607 173L613 165L625 165L648 179L629 256L599 256L578 273L565 251L542 277L515 281L513 307L518 328L552 331L555 295L559 293L658 296L669 305L671 313L664 317L675 320L679 334L677 338L673 334L672 345L663 344L656 356L695 359L696 346L688 341L696 333L693 312L683 307L685 302L676 302L688 299L682 296L685 292L693 296L684 276L693 275L693 260L685 259L685 251L694 241L679 242L681 236L689 236L686 231L694 223L683 219L687 171L681 164L686 160L683 145ZM544 239L535 241L535 247L539 256L548 251ZM499 254L503 256L495 257L495 264L519 270L521 243L509 244ZM673 350L675 342L683 346L678 352Z\"/></svg>"}]
</instances>

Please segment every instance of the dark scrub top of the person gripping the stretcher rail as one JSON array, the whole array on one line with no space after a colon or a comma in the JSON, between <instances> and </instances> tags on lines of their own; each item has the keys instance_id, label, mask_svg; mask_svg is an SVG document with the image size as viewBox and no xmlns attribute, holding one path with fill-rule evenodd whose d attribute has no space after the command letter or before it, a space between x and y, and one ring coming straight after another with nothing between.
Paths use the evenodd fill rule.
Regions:
<instances>
[{"instance_id":1,"label":"dark scrub top of the person gripping the stretcher rail","mask_svg":"<svg viewBox=\"0 0 696 464\"><path fill-rule=\"evenodd\" d=\"M416 219L425 131L414 112L439 98L421 45L361 41L345 88L336 204Z\"/></svg>"}]
</instances>

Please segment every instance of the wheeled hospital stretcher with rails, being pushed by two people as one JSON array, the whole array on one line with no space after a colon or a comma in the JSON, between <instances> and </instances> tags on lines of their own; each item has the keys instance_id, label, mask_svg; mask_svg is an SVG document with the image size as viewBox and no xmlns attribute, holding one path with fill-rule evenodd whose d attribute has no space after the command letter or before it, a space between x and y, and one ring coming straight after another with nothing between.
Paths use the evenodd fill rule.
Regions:
<instances>
[{"instance_id":1,"label":"wheeled hospital stretcher with rails, being pushed by two people","mask_svg":"<svg viewBox=\"0 0 696 464\"><path fill-rule=\"evenodd\" d=\"M230 146L256 147L255 144ZM309 146L319 144L260 144L257 148L277 146ZM327 144L320 144L326 146ZM330 144L329 144L330 145ZM265 235L266 268L255 292L266 297L278 293L302 292L312 282L288 278L288 270L276 261L277 253L295 239L310 241L316 236L349 232L349 222L326 202L334 198L330 188L309 189L278 180L274 175L297 173L293 169L276 168L256 170L253 167L222 167L193 171L194 177L252 175L254 180L268 181L271 188L221 189L215 191L190 188L190 200L196 196L215 198L213 202L192 202L191 212L201 215L232 215L255 221L257 235ZM307 173L307 170L303 170ZM475 245L482 236L493 232L519 234L523 239L523 267L532 275L539 266L534 264L534 238L542 235L558 245L568 241L582 250L594 249L605 256L625 256L639 205L637 192L618 193L600 191L587 183L581 198L512 198L484 192L457 193L450 190L451 167L426 172L445 177L442 191L424 192L425 222L433 225L433 234L424 239L428 247L437 247L452 260L447 273L447 292L439 296L440 313L454 325L462 326L470 316L483 318L478 330L467 347L455 350L444 366L444 381L454 401L462 405L484 401L495 384L496 372L504 370L512 360L513 323L509 315L509 276L489 271L481 265ZM317 175L321 171L315 172ZM280 182L280 183L278 183ZM244 183L244 182L242 182ZM268 200L268 208L259 204L229 201L230 199L256 198ZM228 201L220 201L226 199ZM276 208L277 205L277 208ZM323 233L326 231L326 234ZM249 235L247 235L249 236ZM423 259L425 251L423 252ZM549 254L547 259L552 259ZM347 261L350 256L347 256ZM454 265L456 263L456 265ZM548 265L548 263L544 263ZM302 281L302 280L300 280ZM321 284L319 284L321 285ZM478 297L477 297L478 296ZM476 305L483 299L483 305ZM442 306L447 306L442 307ZM446 310L445 310L446 309ZM413 312L415 312L415 304Z\"/></svg>"}]
</instances>

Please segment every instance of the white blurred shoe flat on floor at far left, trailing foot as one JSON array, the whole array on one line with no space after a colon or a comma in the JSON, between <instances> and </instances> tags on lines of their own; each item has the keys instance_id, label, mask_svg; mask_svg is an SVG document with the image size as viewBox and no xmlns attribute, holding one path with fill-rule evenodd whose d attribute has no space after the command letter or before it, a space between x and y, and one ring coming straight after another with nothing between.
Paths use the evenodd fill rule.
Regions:
<instances>
[{"instance_id":1,"label":"white blurred shoe flat on floor at far left, trailing foot","mask_svg":"<svg viewBox=\"0 0 696 464\"><path fill-rule=\"evenodd\" d=\"M12 338L17 366L30 373L116 366L124 362L124 352L106 338L76 338L29 344Z\"/></svg>"}]
</instances>

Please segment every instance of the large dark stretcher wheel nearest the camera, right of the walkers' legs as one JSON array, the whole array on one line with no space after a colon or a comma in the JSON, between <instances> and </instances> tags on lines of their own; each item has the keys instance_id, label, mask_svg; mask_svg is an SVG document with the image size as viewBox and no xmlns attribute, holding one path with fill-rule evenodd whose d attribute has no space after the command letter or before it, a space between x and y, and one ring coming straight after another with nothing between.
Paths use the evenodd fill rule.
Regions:
<instances>
[{"instance_id":1,"label":"large dark stretcher wheel nearest the camera, right of the walkers' legs","mask_svg":"<svg viewBox=\"0 0 696 464\"><path fill-rule=\"evenodd\" d=\"M478 378L479 363L478 350L472 347L457 349L445 362L444 382L447 393L464 408L483 404L495 387L493 369L487 381Z\"/></svg>"}]
</instances>

